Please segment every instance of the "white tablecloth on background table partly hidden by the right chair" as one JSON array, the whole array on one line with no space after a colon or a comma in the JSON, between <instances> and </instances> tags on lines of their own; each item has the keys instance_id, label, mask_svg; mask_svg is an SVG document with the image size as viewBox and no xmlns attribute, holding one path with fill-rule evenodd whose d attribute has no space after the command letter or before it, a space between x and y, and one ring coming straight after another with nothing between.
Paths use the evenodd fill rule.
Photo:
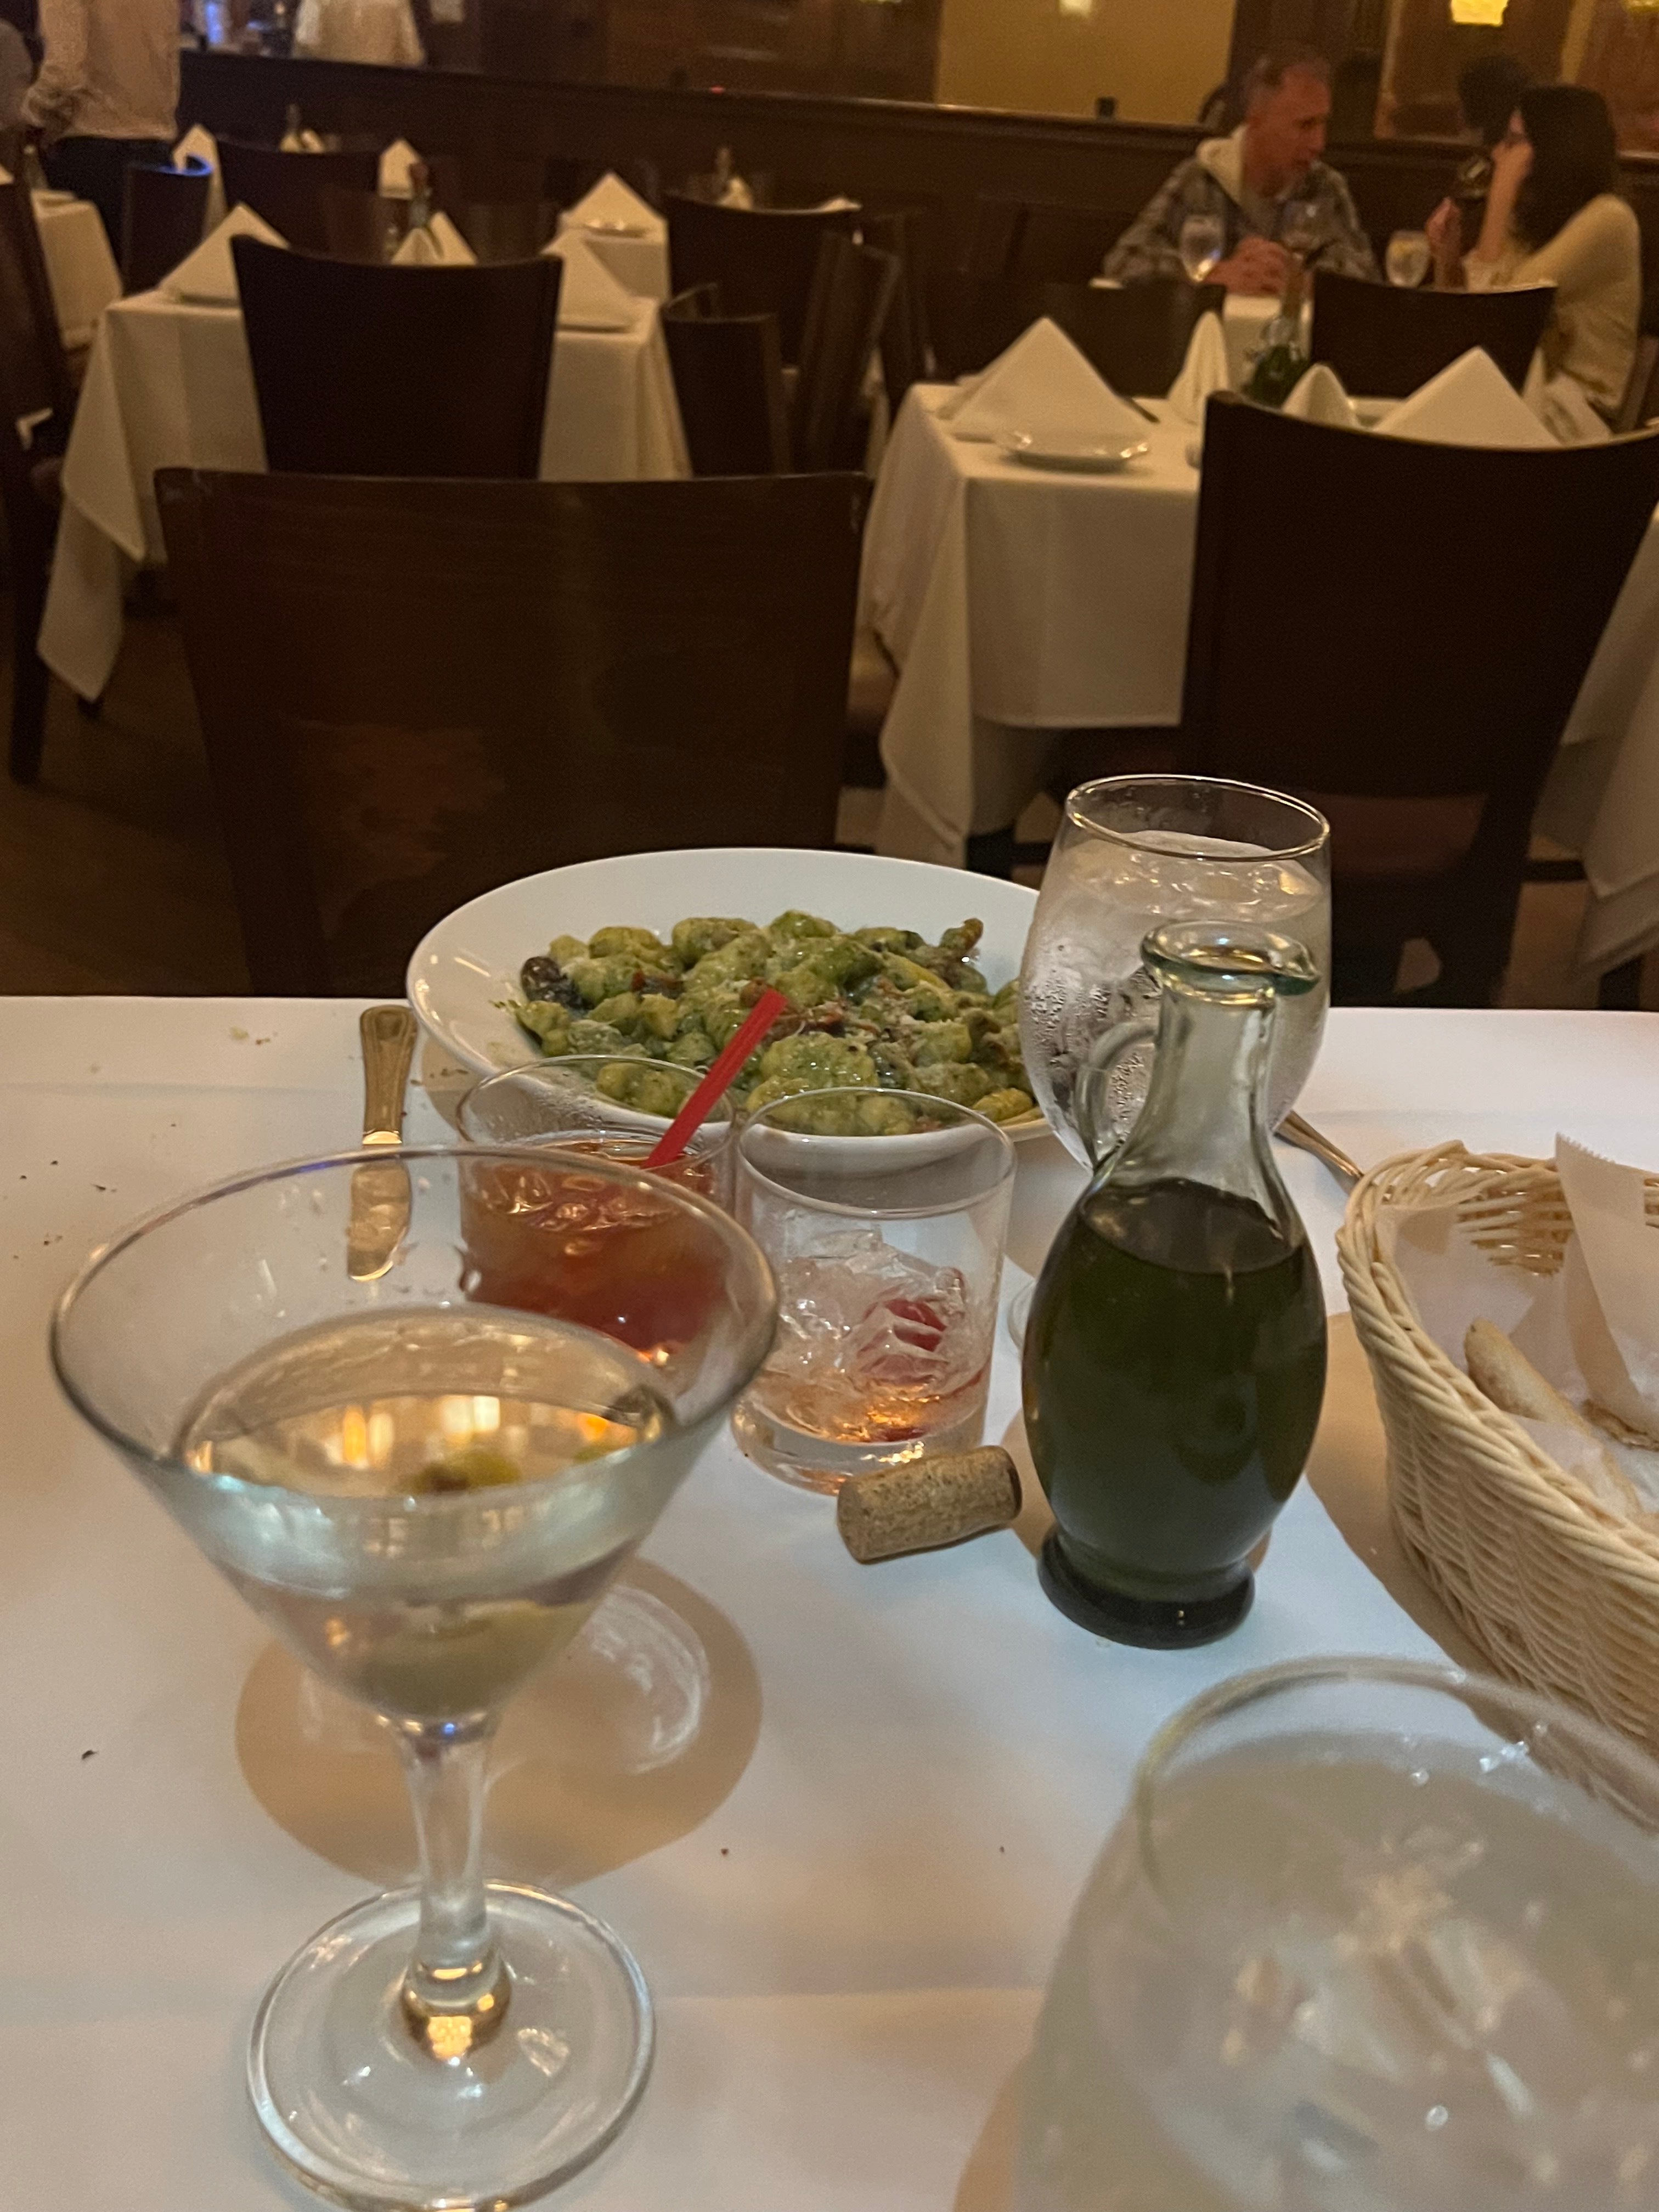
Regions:
<instances>
[{"instance_id":1,"label":"white tablecloth on background table partly hidden by the right chair","mask_svg":"<svg viewBox=\"0 0 1659 2212\"><path fill-rule=\"evenodd\" d=\"M969 836L1018 818L1055 730L1179 723L1203 434L1148 400L1144 460L1062 473L953 438L945 398L914 387L887 442L860 611L900 668L878 849L960 865ZM1584 860L1584 973L1659 945L1659 518L1537 827Z\"/></svg>"}]
</instances>

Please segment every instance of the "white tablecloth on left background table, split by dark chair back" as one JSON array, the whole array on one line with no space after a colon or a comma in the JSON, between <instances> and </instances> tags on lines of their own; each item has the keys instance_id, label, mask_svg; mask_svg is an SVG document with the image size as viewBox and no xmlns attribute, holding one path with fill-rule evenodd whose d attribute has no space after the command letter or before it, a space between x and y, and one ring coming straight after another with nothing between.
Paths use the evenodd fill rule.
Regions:
<instances>
[{"instance_id":1,"label":"white tablecloth on left background table, split by dark chair back","mask_svg":"<svg viewBox=\"0 0 1659 2212\"><path fill-rule=\"evenodd\" d=\"M122 646L133 564L161 562L157 469L263 469L254 374L234 307L161 292L119 301L97 330L64 456L64 518L40 655L95 699ZM611 482L686 476L668 347L641 301L628 330L560 330L546 396L542 478Z\"/></svg>"}]
</instances>

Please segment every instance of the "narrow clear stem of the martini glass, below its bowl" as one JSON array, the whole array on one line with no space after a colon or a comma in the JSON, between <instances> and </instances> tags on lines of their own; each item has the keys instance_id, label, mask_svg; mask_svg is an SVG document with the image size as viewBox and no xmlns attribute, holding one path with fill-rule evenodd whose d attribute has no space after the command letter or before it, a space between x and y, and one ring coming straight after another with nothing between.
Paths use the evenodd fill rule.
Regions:
<instances>
[{"instance_id":1,"label":"narrow clear stem of the martini glass, below its bowl","mask_svg":"<svg viewBox=\"0 0 1659 2212\"><path fill-rule=\"evenodd\" d=\"M420 1843L420 1936L400 2002L416 2042L442 2062L489 2042L513 1986L489 1931L480 1849L493 1734L493 1721L469 1734L398 1730Z\"/></svg>"}]
</instances>

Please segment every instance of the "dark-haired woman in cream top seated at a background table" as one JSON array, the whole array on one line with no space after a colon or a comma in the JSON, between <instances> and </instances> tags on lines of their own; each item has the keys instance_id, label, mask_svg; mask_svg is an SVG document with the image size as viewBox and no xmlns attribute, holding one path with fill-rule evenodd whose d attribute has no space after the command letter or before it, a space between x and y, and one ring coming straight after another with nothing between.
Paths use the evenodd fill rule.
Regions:
<instances>
[{"instance_id":1,"label":"dark-haired woman in cream top seated at a background table","mask_svg":"<svg viewBox=\"0 0 1659 2212\"><path fill-rule=\"evenodd\" d=\"M1619 195L1613 117L1582 84L1533 84L1493 153L1480 243L1462 252L1462 215L1429 217L1442 288L1555 285L1544 367L1571 376L1613 420L1630 380L1641 314L1641 230Z\"/></svg>"}]
</instances>

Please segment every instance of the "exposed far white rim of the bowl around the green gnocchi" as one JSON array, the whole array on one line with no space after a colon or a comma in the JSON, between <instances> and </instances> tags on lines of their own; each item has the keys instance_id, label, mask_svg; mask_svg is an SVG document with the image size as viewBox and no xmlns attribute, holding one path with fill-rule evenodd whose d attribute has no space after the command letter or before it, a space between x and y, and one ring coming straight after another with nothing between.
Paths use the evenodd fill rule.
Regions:
<instances>
[{"instance_id":1,"label":"exposed far white rim of the bowl around the green gnocchi","mask_svg":"<svg viewBox=\"0 0 1659 2212\"><path fill-rule=\"evenodd\" d=\"M595 929L668 931L692 914L770 922L790 907L841 929L916 929L929 945L967 916L984 922L975 964L993 991L1020 973L1037 894L995 876L863 852L790 852L770 845L639 852L522 876L445 916L409 960L409 1004L447 1053L480 1075L542 1066L542 1055L498 1000L518 995L518 971L557 936ZM1020 1135L1040 1135L1040 1117Z\"/></svg>"}]
</instances>

